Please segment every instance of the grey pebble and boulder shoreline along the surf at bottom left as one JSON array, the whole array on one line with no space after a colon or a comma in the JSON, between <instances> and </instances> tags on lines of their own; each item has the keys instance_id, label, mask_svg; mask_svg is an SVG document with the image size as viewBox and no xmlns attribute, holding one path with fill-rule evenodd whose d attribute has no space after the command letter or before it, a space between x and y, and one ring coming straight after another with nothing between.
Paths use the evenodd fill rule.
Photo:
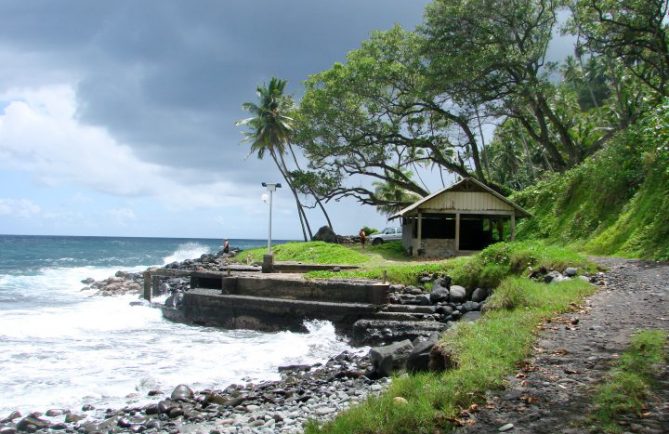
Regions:
<instances>
[{"instance_id":1,"label":"grey pebble and boulder shoreline along the surf at bottom left","mask_svg":"<svg viewBox=\"0 0 669 434\"><path fill-rule=\"evenodd\" d=\"M230 385L194 392L177 386L169 395L150 391L154 403L120 410L84 406L18 412L0 419L0 434L46 433L299 433L307 420L324 422L340 411L379 394L388 378L371 379L367 357L344 352L324 365L279 368L281 380Z\"/></svg>"}]
</instances>

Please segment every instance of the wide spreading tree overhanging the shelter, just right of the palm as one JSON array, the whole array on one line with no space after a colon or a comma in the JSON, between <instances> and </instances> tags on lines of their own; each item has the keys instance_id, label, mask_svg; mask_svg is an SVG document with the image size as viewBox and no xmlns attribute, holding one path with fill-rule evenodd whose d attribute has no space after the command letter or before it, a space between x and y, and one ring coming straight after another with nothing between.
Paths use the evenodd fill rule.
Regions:
<instances>
[{"instance_id":1,"label":"wide spreading tree overhanging the shelter, just right of the palm","mask_svg":"<svg viewBox=\"0 0 669 434\"><path fill-rule=\"evenodd\" d=\"M346 63L307 80L296 142L319 174L311 179L338 181L326 199L352 196L392 207L393 198L428 194L412 176L428 166L486 182L478 113L427 85L422 42L399 26L375 32ZM346 182L352 175L404 193L379 194L370 183Z\"/></svg>"}]
</instances>

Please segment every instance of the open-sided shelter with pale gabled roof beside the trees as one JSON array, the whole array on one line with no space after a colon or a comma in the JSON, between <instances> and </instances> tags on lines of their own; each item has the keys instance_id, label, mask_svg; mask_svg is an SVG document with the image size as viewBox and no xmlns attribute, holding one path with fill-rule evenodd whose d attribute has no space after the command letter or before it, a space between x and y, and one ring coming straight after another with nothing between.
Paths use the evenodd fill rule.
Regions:
<instances>
[{"instance_id":1,"label":"open-sided shelter with pale gabled roof beside the trees","mask_svg":"<svg viewBox=\"0 0 669 434\"><path fill-rule=\"evenodd\" d=\"M516 218L530 213L474 178L464 178L404 208L402 245L414 256L449 257L516 235Z\"/></svg>"}]
</instances>

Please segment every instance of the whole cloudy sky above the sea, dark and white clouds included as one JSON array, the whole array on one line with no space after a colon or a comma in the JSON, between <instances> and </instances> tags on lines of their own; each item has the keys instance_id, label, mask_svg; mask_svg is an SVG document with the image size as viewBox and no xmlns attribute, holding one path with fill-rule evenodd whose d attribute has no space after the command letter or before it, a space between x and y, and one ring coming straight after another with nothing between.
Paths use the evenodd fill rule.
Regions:
<instances>
[{"instance_id":1,"label":"whole cloudy sky above the sea, dark and white clouds included","mask_svg":"<svg viewBox=\"0 0 669 434\"><path fill-rule=\"evenodd\" d=\"M235 122L277 76L310 75L425 0L0 1L0 234L265 238L270 159ZM389 223L326 205L337 233ZM309 211L313 231L325 224ZM299 239L287 189L273 237Z\"/></svg>"}]
</instances>

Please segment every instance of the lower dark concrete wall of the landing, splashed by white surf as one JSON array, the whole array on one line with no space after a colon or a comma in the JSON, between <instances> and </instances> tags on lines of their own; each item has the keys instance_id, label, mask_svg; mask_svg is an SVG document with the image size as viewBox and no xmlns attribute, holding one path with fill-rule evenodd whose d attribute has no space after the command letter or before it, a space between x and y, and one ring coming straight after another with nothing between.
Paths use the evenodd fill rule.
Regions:
<instances>
[{"instance_id":1,"label":"lower dark concrete wall of the landing, splashed by white surf","mask_svg":"<svg viewBox=\"0 0 669 434\"><path fill-rule=\"evenodd\" d=\"M183 318L200 325L260 331L305 331L309 319L332 321L339 332L350 335L352 324L372 318L377 306L333 303L248 295L221 294L215 289L191 289L184 294Z\"/></svg>"}]
</instances>

